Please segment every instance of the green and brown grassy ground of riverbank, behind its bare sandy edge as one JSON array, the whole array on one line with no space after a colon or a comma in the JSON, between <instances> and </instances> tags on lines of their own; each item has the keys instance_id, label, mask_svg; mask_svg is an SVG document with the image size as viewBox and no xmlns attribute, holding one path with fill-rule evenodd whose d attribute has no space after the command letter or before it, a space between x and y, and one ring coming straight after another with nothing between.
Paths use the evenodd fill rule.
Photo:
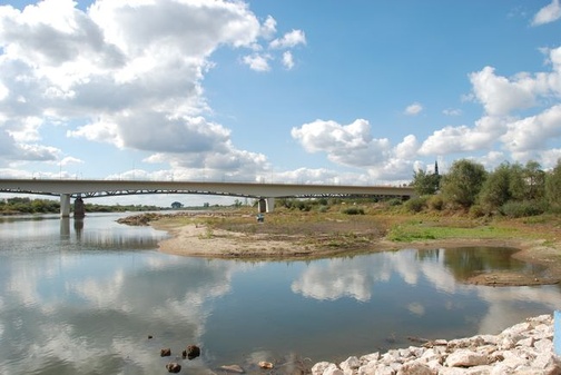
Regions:
<instances>
[{"instance_id":1,"label":"green and brown grassy ground of riverbank, behind its bare sandy edge","mask_svg":"<svg viewBox=\"0 0 561 375\"><path fill-rule=\"evenodd\" d=\"M311 211L279 208L265 214L265 223L257 223L257 211L250 207L224 216L178 216L163 220L170 226L205 225L207 238L214 236L215 229L224 229L332 249L367 248L381 238L396 243L516 238L541 239L547 244L559 243L561 238L561 216L558 215L474 219L459 213L411 214L393 206L364 206L364 215L345 215L344 208Z\"/></svg>"}]
</instances>

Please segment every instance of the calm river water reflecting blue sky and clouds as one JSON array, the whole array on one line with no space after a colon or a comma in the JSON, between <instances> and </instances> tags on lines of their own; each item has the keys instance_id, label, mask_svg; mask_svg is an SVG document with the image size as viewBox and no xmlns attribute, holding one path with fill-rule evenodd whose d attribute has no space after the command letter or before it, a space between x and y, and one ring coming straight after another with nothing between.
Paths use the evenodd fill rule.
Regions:
<instances>
[{"instance_id":1,"label":"calm river water reflecting blue sky and clouds","mask_svg":"<svg viewBox=\"0 0 561 375\"><path fill-rule=\"evenodd\" d=\"M122 216L0 217L0 374L165 374L169 361L185 374L269 361L282 374L419 345L410 336L495 334L561 306L559 286L462 283L529 268L512 249L210 260L158 253L167 234ZM201 356L177 358L190 344Z\"/></svg>"}]
</instances>

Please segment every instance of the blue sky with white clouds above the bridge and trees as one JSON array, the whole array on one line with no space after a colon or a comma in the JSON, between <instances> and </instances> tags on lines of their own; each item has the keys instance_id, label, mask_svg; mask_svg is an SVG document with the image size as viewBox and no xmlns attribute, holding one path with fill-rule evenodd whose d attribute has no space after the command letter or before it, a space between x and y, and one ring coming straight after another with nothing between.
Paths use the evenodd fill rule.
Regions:
<instances>
[{"instance_id":1,"label":"blue sky with white clouds above the bridge and trees","mask_svg":"<svg viewBox=\"0 0 561 375\"><path fill-rule=\"evenodd\" d=\"M560 0L0 2L0 178L402 185L462 158L561 158Z\"/></svg>"}]
</instances>

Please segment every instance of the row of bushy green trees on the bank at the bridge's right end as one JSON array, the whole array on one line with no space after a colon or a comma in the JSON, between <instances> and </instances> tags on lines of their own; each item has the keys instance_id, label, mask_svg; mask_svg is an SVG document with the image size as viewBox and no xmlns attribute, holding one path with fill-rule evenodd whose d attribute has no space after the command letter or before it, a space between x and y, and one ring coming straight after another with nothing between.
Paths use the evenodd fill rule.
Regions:
<instances>
[{"instance_id":1,"label":"row of bushy green trees on the bank at the bridge's right end","mask_svg":"<svg viewBox=\"0 0 561 375\"><path fill-rule=\"evenodd\" d=\"M475 217L524 217L561 213L561 160L545 171L537 161L503 162L492 171L469 159L452 164L447 174L413 174L419 197L406 207L421 210L464 210Z\"/></svg>"}]
</instances>

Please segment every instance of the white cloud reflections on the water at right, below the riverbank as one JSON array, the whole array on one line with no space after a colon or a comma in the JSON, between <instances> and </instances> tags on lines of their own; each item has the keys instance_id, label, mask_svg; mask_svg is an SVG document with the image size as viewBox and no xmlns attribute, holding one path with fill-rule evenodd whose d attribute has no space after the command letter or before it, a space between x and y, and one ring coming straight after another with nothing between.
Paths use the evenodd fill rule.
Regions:
<instances>
[{"instance_id":1,"label":"white cloud reflections on the water at right, below the riverbank","mask_svg":"<svg viewBox=\"0 0 561 375\"><path fill-rule=\"evenodd\" d=\"M479 325L481 333L489 333L493 327L506 327L533 314L531 308L535 307L524 306L541 304L551 310L561 306L561 295L555 286L493 288L457 283L452 272L443 264L444 251L437 249L431 254L421 254L407 249L315 261L293 282L292 290L315 299L337 299L348 296L366 302L373 298L376 284L386 283L392 277L397 276L412 286L425 280L435 290L451 297L456 293L475 293L489 306L482 317L473 322ZM407 304L406 300L404 303ZM442 307L457 314L462 314L464 309L461 302L453 300L445 302ZM411 302L406 308L412 314L422 316L426 306Z\"/></svg>"}]
</instances>

